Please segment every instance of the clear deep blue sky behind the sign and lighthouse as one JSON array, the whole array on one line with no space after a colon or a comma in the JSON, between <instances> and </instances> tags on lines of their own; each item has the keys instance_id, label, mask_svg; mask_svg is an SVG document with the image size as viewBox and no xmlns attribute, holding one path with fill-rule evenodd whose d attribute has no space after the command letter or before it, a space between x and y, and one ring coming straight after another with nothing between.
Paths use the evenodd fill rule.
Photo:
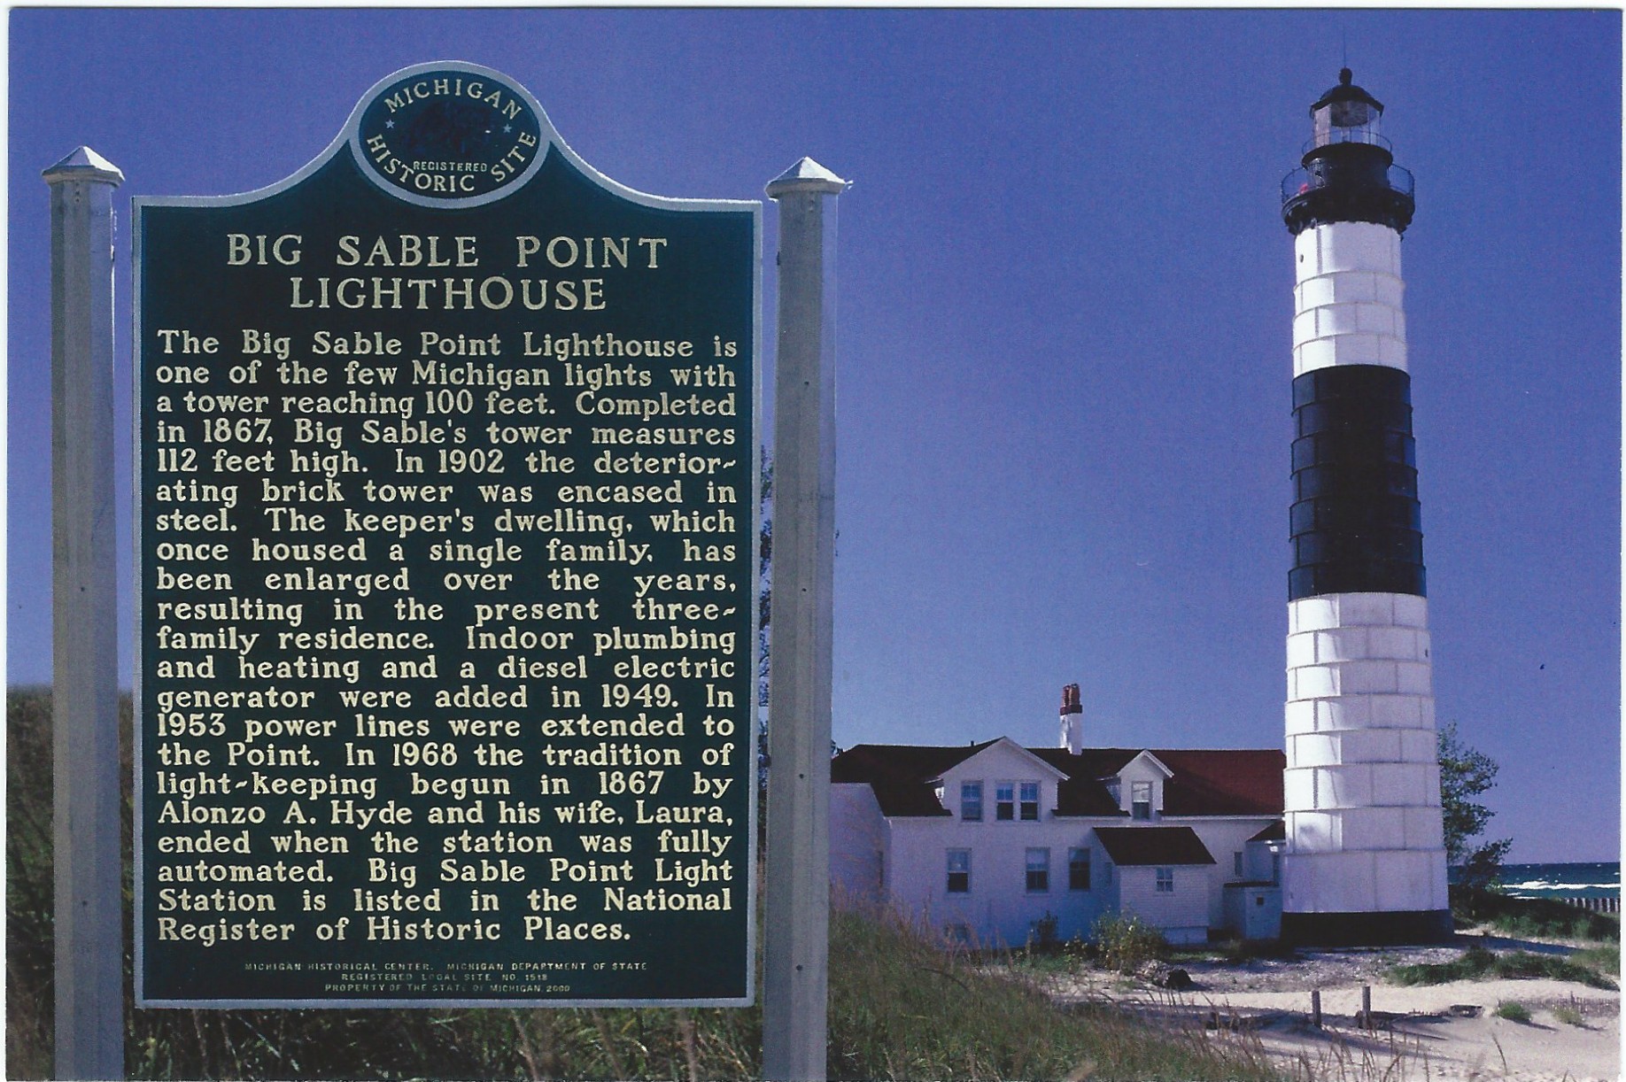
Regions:
<instances>
[{"instance_id":1,"label":"clear deep blue sky behind the sign and lighthouse","mask_svg":"<svg viewBox=\"0 0 1626 1082\"><path fill-rule=\"evenodd\" d=\"M1280 746L1276 184L1348 58L1416 175L1439 716L1501 764L1512 859L1616 859L1619 34L1618 11L13 8L8 679L50 671L39 172L80 145L125 172L127 432L128 197L268 185L374 81L457 58L634 188L761 198L803 154L854 180L837 742L1050 744L1076 681L1101 744ZM771 258L764 288L771 344Z\"/></svg>"}]
</instances>

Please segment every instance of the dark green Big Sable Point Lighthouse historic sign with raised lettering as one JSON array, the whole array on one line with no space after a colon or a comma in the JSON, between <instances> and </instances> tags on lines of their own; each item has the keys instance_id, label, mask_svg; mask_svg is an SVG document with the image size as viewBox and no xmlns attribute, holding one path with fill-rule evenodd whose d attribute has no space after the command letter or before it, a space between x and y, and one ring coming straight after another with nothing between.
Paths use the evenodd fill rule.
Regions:
<instances>
[{"instance_id":1,"label":"dark green Big Sable Point Lighthouse historic sign with raised lettering","mask_svg":"<svg viewBox=\"0 0 1626 1082\"><path fill-rule=\"evenodd\" d=\"M751 1001L759 231L468 63L137 200L141 1006Z\"/></svg>"}]
</instances>

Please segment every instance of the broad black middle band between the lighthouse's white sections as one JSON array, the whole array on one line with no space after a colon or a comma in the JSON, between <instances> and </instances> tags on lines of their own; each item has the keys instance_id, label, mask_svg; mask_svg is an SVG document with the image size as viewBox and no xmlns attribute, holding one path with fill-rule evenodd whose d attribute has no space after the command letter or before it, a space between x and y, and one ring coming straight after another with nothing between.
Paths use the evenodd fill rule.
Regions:
<instances>
[{"instance_id":1,"label":"broad black middle band between the lighthouse's white sections","mask_svg":"<svg viewBox=\"0 0 1626 1082\"><path fill-rule=\"evenodd\" d=\"M1288 599L1426 596L1411 377L1379 364L1306 372L1293 419Z\"/></svg>"}]
</instances>

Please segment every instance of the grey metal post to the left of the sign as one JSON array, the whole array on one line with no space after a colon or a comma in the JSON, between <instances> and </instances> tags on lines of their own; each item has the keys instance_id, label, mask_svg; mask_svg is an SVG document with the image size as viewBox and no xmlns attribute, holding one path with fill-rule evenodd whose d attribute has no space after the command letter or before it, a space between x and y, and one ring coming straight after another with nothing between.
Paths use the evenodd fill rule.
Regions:
<instances>
[{"instance_id":1,"label":"grey metal post to the left of the sign","mask_svg":"<svg viewBox=\"0 0 1626 1082\"><path fill-rule=\"evenodd\" d=\"M50 185L52 731L57 1077L124 1077L112 190L88 146Z\"/></svg>"}]
</instances>

